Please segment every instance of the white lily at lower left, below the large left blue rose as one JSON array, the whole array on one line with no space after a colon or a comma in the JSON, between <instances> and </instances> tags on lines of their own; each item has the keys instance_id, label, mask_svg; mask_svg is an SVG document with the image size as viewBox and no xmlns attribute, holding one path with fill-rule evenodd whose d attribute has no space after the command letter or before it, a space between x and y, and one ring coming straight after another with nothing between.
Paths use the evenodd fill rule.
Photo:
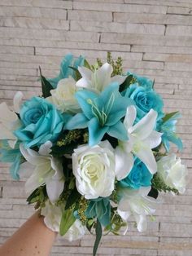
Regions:
<instances>
[{"instance_id":1,"label":"white lily at lower left, below the large left blue rose","mask_svg":"<svg viewBox=\"0 0 192 256\"><path fill-rule=\"evenodd\" d=\"M28 161L20 166L20 174L26 169L33 170L33 174L25 183L27 193L33 192L36 188L46 183L46 192L51 202L55 202L64 188L64 176L62 163L55 157L50 155L52 143L47 141L41 145L39 152L33 151L30 148L24 148L20 144L20 152ZM35 169L34 169L35 166ZM30 173L32 171L29 171Z\"/></svg>"}]
</instances>

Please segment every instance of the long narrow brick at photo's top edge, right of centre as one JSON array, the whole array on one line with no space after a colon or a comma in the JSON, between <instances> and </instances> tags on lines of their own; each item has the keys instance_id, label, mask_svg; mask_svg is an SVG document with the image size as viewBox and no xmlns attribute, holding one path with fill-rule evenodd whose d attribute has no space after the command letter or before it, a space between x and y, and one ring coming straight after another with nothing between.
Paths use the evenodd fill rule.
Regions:
<instances>
[{"instance_id":1,"label":"long narrow brick at photo's top edge, right of centre","mask_svg":"<svg viewBox=\"0 0 192 256\"><path fill-rule=\"evenodd\" d=\"M166 13L167 7L147 6L147 5L132 5L132 4L116 4L110 5L100 2L80 2L74 1L73 8L77 10L94 10L94 11L121 11L131 13Z\"/></svg>"}]
</instances>

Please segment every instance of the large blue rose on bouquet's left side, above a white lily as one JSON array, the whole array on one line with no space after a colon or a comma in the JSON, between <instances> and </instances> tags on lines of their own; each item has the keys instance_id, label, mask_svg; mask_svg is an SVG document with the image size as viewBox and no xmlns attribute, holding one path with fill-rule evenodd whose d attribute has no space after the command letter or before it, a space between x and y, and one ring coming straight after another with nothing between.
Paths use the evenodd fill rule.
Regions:
<instances>
[{"instance_id":1,"label":"large blue rose on bouquet's left side, above a white lily","mask_svg":"<svg viewBox=\"0 0 192 256\"><path fill-rule=\"evenodd\" d=\"M47 140L54 142L63 129L64 117L46 99L33 97L22 105L20 121L22 126L15 130L15 136L31 148Z\"/></svg>"}]
</instances>

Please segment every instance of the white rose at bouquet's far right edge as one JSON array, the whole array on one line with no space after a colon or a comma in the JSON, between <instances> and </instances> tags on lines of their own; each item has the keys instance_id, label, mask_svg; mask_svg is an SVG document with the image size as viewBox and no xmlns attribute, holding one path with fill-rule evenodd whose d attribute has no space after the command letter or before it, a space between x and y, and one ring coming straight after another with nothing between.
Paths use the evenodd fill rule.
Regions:
<instances>
[{"instance_id":1,"label":"white rose at bouquet's far right edge","mask_svg":"<svg viewBox=\"0 0 192 256\"><path fill-rule=\"evenodd\" d=\"M176 154L162 157L157 162L157 166L157 173L168 187L176 188L180 193L185 192L187 169L181 164L181 159L177 158Z\"/></svg>"}]
</instances>

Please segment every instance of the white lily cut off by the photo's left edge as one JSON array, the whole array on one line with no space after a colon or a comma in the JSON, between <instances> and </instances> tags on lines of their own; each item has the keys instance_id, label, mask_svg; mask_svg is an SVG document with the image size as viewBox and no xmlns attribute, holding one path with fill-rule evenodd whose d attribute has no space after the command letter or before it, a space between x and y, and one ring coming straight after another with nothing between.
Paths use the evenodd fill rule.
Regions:
<instances>
[{"instance_id":1,"label":"white lily cut off by the photo's left edge","mask_svg":"<svg viewBox=\"0 0 192 256\"><path fill-rule=\"evenodd\" d=\"M18 91L13 99L14 110L16 113L19 113L19 106L22 97L23 94ZM0 104L0 139L7 139L11 148L15 147L15 143L17 141L13 132L20 127L20 119L17 117L15 112L11 111L5 102Z\"/></svg>"}]
</instances>

